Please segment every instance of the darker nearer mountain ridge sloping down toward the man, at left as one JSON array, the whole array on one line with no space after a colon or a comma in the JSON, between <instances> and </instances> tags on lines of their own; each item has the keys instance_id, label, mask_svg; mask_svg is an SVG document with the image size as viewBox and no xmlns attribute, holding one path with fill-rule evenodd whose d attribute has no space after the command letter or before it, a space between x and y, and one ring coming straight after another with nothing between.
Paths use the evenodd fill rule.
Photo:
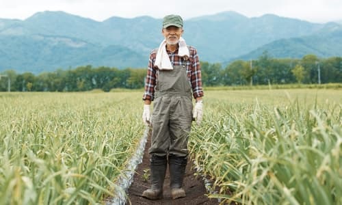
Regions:
<instances>
[{"instance_id":1,"label":"darker nearer mountain ridge sloping down toward the man, at left","mask_svg":"<svg viewBox=\"0 0 342 205\"><path fill-rule=\"evenodd\" d=\"M99 46L62 36L0 36L0 47L1 70L14 68L18 72L39 73L84 65L137 68L146 61L146 56L124 46Z\"/></svg>"}]
</instances>

